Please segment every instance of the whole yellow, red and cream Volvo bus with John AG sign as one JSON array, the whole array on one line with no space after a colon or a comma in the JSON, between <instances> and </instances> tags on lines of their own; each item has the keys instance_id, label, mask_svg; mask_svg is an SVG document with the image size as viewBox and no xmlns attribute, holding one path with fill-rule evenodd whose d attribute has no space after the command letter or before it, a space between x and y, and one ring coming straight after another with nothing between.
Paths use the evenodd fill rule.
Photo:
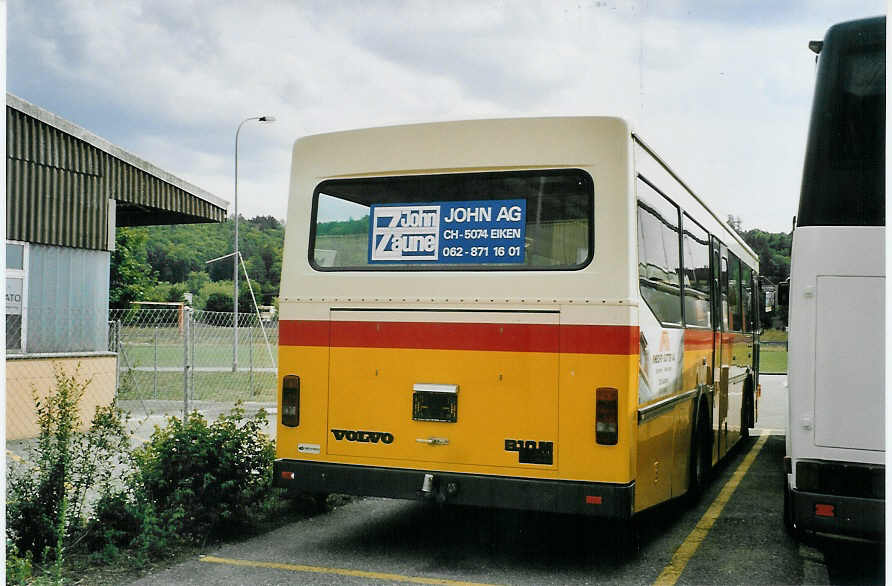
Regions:
<instances>
[{"instance_id":1,"label":"whole yellow, red and cream Volvo bus with John AG sign","mask_svg":"<svg viewBox=\"0 0 892 586\"><path fill-rule=\"evenodd\" d=\"M621 118L300 138L275 484L630 526L754 425L757 276Z\"/></svg>"}]
</instances>

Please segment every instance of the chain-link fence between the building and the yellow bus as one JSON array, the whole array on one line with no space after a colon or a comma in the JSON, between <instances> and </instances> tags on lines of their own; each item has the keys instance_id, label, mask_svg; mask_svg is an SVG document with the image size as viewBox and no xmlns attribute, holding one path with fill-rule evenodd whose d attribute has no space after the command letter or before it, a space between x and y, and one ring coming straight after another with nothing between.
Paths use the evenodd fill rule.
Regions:
<instances>
[{"instance_id":1,"label":"chain-link fence between the building and the yellow bus","mask_svg":"<svg viewBox=\"0 0 892 586\"><path fill-rule=\"evenodd\" d=\"M112 310L117 397L131 412L227 411L236 401L273 406L279 324L255 314L188 308ZM237 339L237 343L236 343Z\"/></svg>"}]
</instances>

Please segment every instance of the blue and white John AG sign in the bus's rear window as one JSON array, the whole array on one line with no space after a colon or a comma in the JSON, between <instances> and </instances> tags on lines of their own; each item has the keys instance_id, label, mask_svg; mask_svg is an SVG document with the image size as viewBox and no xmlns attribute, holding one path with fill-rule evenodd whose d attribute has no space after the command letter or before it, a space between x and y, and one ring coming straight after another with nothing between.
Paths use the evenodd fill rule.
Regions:
<instances>
[{"instance_id":1,"label":"blue and white John AG sign in the bus's rear window","mask_svg":"<svg viewBox=\"0 0 892 586\"><path fill-rule=\"evenodd\" d=\"M523 263L526 200L372 205L369 264Z\"/></svg>"}]
</instances>

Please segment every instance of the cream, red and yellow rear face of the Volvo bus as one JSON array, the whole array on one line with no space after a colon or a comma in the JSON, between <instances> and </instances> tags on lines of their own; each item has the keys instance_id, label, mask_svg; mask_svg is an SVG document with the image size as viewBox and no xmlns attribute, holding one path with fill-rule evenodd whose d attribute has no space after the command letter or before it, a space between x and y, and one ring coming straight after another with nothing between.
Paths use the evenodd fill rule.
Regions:
<instances>
[{"instance_id":1,"label":"cream, red and yellow rear face of the Volvo bus","mask_svg":"<svg viewBox=\"0 0 892 586\"><path fill-rule=\"evenodd\" d=\"M298 140L277 485L629 518L631 158L617 118Z\"/></svg>"}]
</instances>

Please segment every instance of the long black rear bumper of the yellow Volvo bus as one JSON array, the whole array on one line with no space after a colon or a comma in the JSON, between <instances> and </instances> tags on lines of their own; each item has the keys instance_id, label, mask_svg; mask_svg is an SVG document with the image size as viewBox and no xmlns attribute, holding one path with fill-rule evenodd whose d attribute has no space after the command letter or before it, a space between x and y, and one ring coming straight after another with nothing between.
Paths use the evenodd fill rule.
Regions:
<instances>
[{"instance_id":1,"label":"long black rear bumper of the yellow Volvo bus","mask_svg":"<svg viewBox=\"0 0 892 586\"><path fill-rule=\"evenodd\" d=\"M543 480L287 459L276 460L273 469L275 486L294 492L435 499L457 505L619 520L631 518L635 495L634 482ZM433 478L430 490L425 492L422 487L427 474Z\"/></svg>"}]
</instances>

